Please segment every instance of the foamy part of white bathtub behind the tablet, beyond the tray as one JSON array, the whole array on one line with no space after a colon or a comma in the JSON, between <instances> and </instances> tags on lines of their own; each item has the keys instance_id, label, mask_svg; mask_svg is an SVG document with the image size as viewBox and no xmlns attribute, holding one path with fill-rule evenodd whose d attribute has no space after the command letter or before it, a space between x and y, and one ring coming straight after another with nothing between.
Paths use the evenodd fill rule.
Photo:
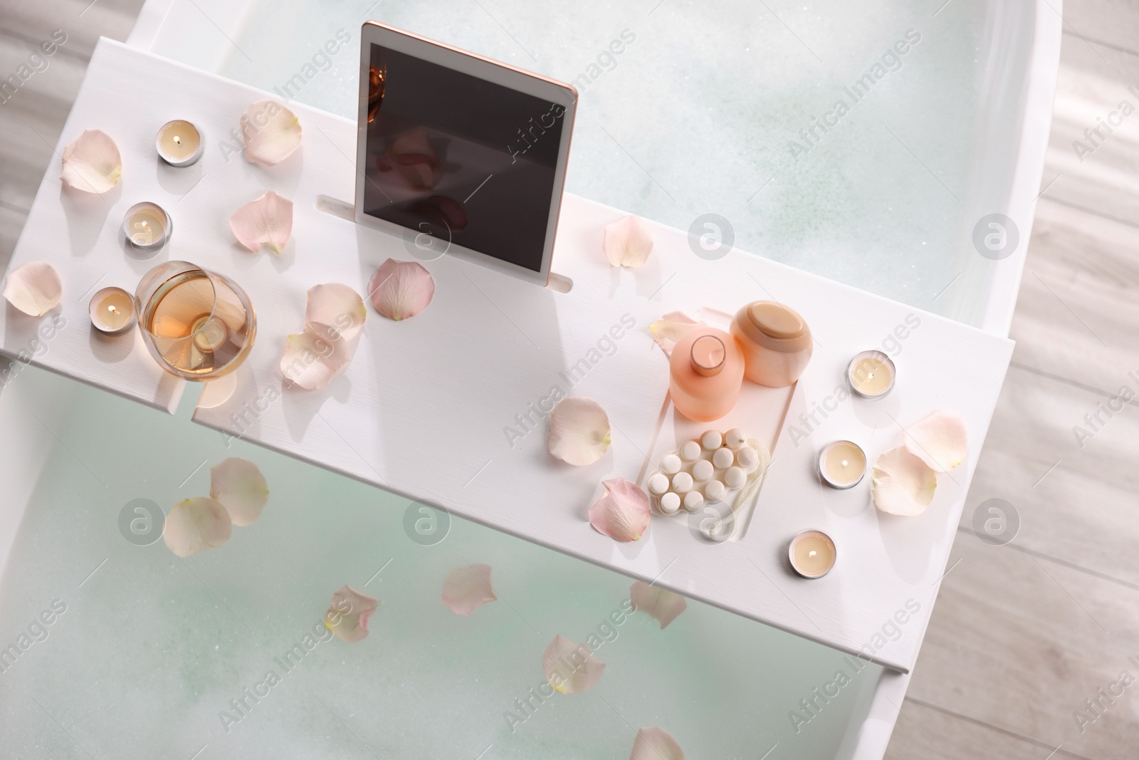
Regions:
<instances>
[{"instance_id":1,"label":"foamy part of white bathtub behind the tablet, beyond the tray","mask_svg":"<svg viewBox=\"0 0 1139 760\"><path fill-rule=\"evenodd\" d=\"M272 91L344 30L352 46L295 97L354 119L368 5L148 0L129 42ZM577 82L570 191L679 229L718 213L744 251L1008 334L1051 122L1058 3L642 5L427 0L380 2L371 17ZM624 30L636 41L590 68ZM907 34L920 41L853 103L851 85ZM800 131L838 99L850 113L808 144ZM790 140L806 153L793 157ZM994 213L1019 238L999 260L973 239Z\"/></svg>"}]
</instances>

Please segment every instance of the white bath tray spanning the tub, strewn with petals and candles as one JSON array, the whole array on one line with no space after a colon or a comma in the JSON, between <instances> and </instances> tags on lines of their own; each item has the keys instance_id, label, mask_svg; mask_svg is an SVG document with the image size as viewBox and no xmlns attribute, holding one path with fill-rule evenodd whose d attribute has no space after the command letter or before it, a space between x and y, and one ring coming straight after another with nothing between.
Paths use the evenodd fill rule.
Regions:
<instances>
[{"instance_id":1,"label":"white bath tray spanning the tub, strewn with petals and candles","mask_svg":"<svg viewBox=\"0 0 1139 760\"><path fill-rule=\"evenodd\" d=\"M364 293L384 260L410 254L398 237L316 207L320 196L352 198L352 122L292 104L304 129L296 154L271 169L239 154L226 160L220 142L264 97L99 42L57 152L83 129L101 129L123 154L123 178L106 197L75 198L60 190L58 161L44 175L11 265L55 264L64 278L67 327L35 363L173 408L181 384L137 338L97 341L82 296L100 283L133 289L165 259L194 261L236 279L259 319L233 395L199 408L196 422L888 667L912 665L1010 341L741 251L706 261L685 232L655 223L649 263L613 269L600 251L601 230L622 212L571 195L554 252L555 270L574 283L570 293L443 256L425 263L436 283L426 311L392 322L369 309L355 358L341 377L320 392L282 392L278 366L285 336L302 327L305 291L344 283ZM190 120L205 133L206 154L195 166L172 169L154 155L155 133L172 119ZM229 229L229 215L269 189L295 204L293 239L280 256L243 251ZM144 199L174 218L173 240L150 261L125 255L118 239L123 212ZM648 326L672 310L716 304L730 311L756 299L793 305L817 345L773 442L776 459L746 536L707 547L691 540L682 521L661 518L634 544L597 533L585 512L598 483L616 475L637 480L662 422L667 365ZM18 353L36 326L0 310L0 349ZM894 391L880 401L837 400L850 358L902 332ZM613 446L595 465L570 467L548 455L541 408L555 386L591 397L608 412ZM925 514L877 514L869 477L850 491L819 484L814 461L823 443L854 440L874 461L900 444L900 425L935 407L965 418L970 451L942 479ZM679 435L683 425L672 427ZM449 465L437 469L431 463L441 449ZM827 531L838 546L837 566L816 581L786 566L787 540L808 528ZM921 607L913 623L921 630L874 645L908 599Z\"/></svg>"}]
</instances>

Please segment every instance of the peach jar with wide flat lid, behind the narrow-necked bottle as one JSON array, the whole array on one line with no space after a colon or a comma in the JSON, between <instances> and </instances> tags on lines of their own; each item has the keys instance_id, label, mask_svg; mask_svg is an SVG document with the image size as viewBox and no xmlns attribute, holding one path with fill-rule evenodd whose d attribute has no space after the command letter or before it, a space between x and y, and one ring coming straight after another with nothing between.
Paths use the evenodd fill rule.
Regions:
<instances>
[{"instance_id":1,"label":"peach jar with wide flat lid, behind the narrow-necked bottle","mask_svg":"<svg viewBox=\"0 0 1139 760\"><path fill-rule=\"evenodd\" d=\"M790 385L811 360L811 328L775 301L754 301L737 311L731 334L744 352L744 377L760 385Z\"/></svg>"}]
</instances>

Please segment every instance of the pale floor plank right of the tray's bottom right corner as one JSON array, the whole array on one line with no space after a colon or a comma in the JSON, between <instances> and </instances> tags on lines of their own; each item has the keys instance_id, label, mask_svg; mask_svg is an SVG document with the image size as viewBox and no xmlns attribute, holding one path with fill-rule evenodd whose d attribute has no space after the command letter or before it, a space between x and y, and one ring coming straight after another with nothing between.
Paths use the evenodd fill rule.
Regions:
<instances>
[{"instance_id":1,"label":"pale floor plank right of the tray's bottom right corner","mask_svg":"<svg viewBox=\"0 0 1139 760\"><path fill-rule=\"evenodd\" d=\"M1133 747L1139 667L1128 657L1139 654L1139 590L967 532L950 562L958 558L942 582L909 697L1076 755L1115 758ZM1081 733L1074 711L1124 669L1137 685Z\"/></svg>"}]
</instances>

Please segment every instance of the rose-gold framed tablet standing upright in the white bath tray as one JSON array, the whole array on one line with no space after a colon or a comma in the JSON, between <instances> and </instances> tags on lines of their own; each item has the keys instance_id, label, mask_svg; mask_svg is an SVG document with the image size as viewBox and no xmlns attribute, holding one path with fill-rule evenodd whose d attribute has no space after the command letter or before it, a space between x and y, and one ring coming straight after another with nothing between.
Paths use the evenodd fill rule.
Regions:
<instances>
[{"instance_id":1,"label":"rose-gold framed tablet standing upright in the white bath tray","mask_svg":"<svg viewBox=\"0 0 1139 760\"><path fill-rule=\"evenodd\" d=\"M377 22L360 40L355 221L546 285L576 90Z\"/></svg>"}]
</instances>

